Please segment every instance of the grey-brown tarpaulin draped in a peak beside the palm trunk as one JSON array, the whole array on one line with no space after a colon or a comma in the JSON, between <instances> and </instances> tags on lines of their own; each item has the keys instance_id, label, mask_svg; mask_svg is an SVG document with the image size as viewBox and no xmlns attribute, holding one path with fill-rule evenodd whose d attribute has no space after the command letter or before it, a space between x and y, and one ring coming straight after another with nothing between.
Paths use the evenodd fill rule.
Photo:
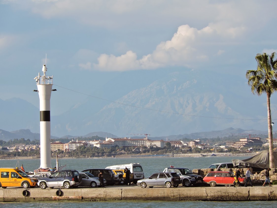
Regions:
<instances>
[{"instance_id":1,"label":"grey-brown tarpaulin draped in a peak beside the palm trunk","mask_svg":"<svg viewBox=\"0 0 277 208\"><path fill-rule=\"evenodd\" d=\"M274 156L274 167L277 168L277 151L273 151ZM268 169L269 168L269 150L260 151L255 156L239 160L239 159L232 159L234 167L236 166L247 166L247 167L255 167L255 168L262 168Z\"/></svg>"}]
</instances>

